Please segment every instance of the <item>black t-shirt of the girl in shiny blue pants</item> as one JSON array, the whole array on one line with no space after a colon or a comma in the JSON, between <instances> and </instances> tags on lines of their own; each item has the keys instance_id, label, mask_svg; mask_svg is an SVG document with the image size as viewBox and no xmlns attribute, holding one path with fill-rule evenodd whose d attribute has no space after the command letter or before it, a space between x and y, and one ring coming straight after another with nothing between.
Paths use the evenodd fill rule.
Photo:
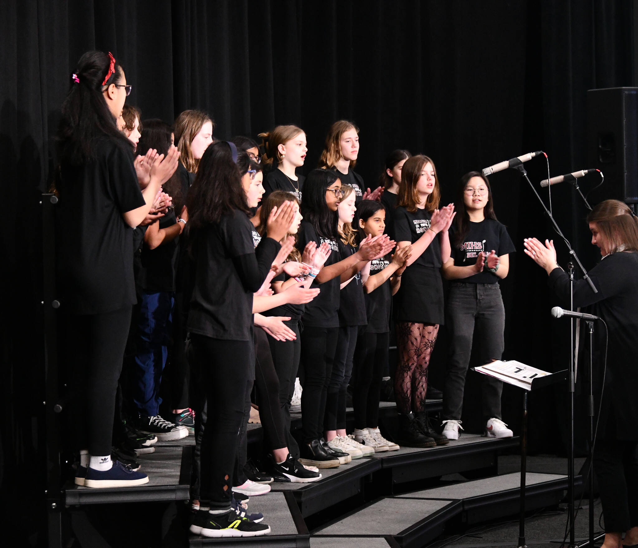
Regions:
<instances>
[{"instance_id":1,"label":"black t-shirt of the girl in shiny blue pants","mask_svg":"<svg viewBox=\"0 0 638 548\"><path fill-rule=\"evenodd\" d=\"M158 221L159 228L173 226L177 219L175 211L171 210ZM144 244L142 247L142 270L140 271L140 287L145 291L175 291L177 275L177 254L179 236L151 249Z\"/></svg>"}]
</instances>

